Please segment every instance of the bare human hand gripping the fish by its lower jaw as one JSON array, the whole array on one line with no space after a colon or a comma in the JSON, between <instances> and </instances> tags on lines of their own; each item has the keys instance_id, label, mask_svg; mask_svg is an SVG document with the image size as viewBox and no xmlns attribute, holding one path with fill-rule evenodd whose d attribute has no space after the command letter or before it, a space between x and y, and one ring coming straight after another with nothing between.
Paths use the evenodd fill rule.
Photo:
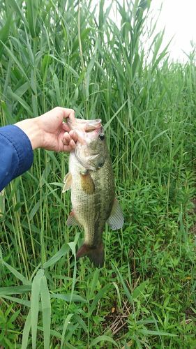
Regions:
<instances>
[{"instance_id":1,"label":"bare human hand gripping the fish by its lower jaw","mask_svg":"<svg viewBox=\"0 0 196 349\"><path fill-rule=\"evenodd\" d=\"M27 134L33 149L44 148L54 151L71 151L75 148L77 135L63 120L75 119L73 109L55 107L40 117L26 119L15 124Z\"/></svg>"}]
</instances>

